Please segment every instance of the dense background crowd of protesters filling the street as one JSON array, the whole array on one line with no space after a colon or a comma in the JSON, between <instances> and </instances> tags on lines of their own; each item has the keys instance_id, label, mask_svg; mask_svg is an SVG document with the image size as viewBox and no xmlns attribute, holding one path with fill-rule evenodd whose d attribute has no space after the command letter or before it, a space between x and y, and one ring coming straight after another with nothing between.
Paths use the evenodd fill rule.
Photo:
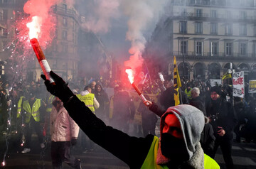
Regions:
<instances>
[{"instance_id":1,"label":"dense background crowd of protesters filling the street","mask_svg":"<svg viewBox=\"0 0 256 169\"><path fill-rule=\"evenodd\" d=\"M165 112L169 107L174 106L173 97L173 87L174 82L172 78L166 77L165 81L157 80L146 80L143 84L138 84L139 89L145 95L146 100L150 100L147 94L156 95L157 102L155 104L159 105L163 112ZM100 107L95 107L94 112L97 117L102 119L106 124L113 126L116 129L124 131L125 133L134 134L136 136L146 136L151 133L156 135L155 128L158 118L156 114L149 109L146 109L144 103L141 102L138 109L135 109L133 98L129 94L132 92L132 86L127 84L127 82L121 82L120 80L104 80L93 79L90 80L68 80L68 86L72 89L74 94L82 94L82 92L92 93L93 97L97 99ZM218 86L218 84L216 84ZM229 102L230 105L235 109L235 116L237 116L238 122L234 126L235 140L238 143L243 141L245 143L256 142L256 99L253 95L246 95L245 99L240 97L232 96L232 87L230 85L224 84L223 86L218 86L220 91L214 90L214 87L210 86L208 80L185 80L181 78L181 103L191 104L203 111L205 116L208 116L207 109L208 103L211 101L211 92L216 92L220 97ZM108 94L107 89L113 89L112 95ZM38 121L35 117L34 120L38 123L43 135L50 135L50 124L49 124L49 113L48 108L52 107L53 100L49 102L51 98L50 94L46 91L46 87L43 84L43 80L38 82L0 82L0 124L1 124L1 134L14 132L20 133L19 138L26 137L28 139L29 134L23 129L21 125L26 123L26 115L24 115L25 110L21 109L21 97L23 101L31 99L31 97L36 97L36 99L41 99L41 120ZM85 95L86 95L85 94ZM195 94L196 97L194 97ZM82 98L82 96L80 96ZM78 97L79 98L79 97ZM22 102L23 102L22 101ZM86 103L85 103L86 104ZM95 104L95 103L94 103ZM214 102L212 104L215 104ZM88 106L87 106L88 107ZM93 107L93 106L92 106ZM210 109L210 108L209 108ZM51 110L51 109L50 109ZM136 111L141 114L141 123L133 123L134 116L136 116ZM159 114L158 114L159 115ZM210 121L215 121L218 116L208 116ZM31 121L29 121L31 122ZM216 129L213 131L216 132ZM232 132L232 131L230 131ZM38 138L41 143L41 148L45 148L42 145L43 140L41 135ZM85 136L81 136L82 131L79 132L78 145L82 147L82 151L95 151L95 146L92 143L88 143L88 139ZM243 139L241 139L243 138ZM218 141L218 139L217 139ZM233 141L233 138L232 138ZM85 142L89 146L83 145ZM213 146L211 146L213 149ZM220 145L221 147L221 145ZM78 148L79 149L79 148ZM23 151L23 153L27 153ZM29 151L28 151L29 152ZM214 155L209 153L209 156L214 158ZM226 162L226 161L225 161Z\"/></svg>"}]
</instances>

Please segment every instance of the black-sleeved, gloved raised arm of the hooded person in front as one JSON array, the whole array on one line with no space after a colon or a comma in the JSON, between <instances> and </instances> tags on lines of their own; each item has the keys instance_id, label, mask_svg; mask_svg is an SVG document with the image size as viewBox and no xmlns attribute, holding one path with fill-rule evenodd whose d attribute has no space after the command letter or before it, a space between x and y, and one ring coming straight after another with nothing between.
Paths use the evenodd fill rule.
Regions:
<instances>
[{"instance_id":1,"label":"black-sleeved, gloved raised arm of the hooded person in front","mask_svg":"<svg viewBox=\"0 0 256 169\"><path fill-rule=\"evenodd\" d=\"M50 76L55 80L55 84L50 84L50 81L41 75L45 80L47 90L63 101L68 114L80 129L92 141L127 163L130 168L140 168L144 163L154 136L149 135L146 138L132 137L127 133L113 129L111 126L106 126L71 92L61 77L58 77L54 72L50 72Z\"/></svg>"}]
</instances>

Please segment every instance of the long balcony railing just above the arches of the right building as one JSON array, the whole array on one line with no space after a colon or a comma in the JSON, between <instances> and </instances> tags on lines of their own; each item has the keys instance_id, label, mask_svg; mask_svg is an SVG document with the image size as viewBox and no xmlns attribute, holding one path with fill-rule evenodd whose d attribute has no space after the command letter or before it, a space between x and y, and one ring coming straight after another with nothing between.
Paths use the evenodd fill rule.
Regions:
<instances>
[{"instance_id":1,"label":"long balcony railing just above the arches of the right building","mask_svg":"<svg viewBox=\"0 0 256 169\"><path fill-rule=\"evenodd\" d=\"M176 56L183 56L183 53L181 52L174 52L173 55ZM246 55L241 55L240 53L232 53L231 55L227 55L226 53L218 53L216 55L212 55L212 53L204 52L201 54L198 54L196 52L188 52L185 53L184 56L196 56L196 57L214 57L214 58L252 58L252 53L247 53Z\"/></svg>"}]
</instances>

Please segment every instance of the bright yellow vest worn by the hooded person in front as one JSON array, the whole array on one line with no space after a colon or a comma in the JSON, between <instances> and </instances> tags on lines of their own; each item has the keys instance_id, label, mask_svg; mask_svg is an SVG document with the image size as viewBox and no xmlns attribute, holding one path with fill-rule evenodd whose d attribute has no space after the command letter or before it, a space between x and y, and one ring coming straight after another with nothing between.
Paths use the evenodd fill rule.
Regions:
<instances>
[{"instance_id":1,"label":"bright yellow vest worn by the hooded person in front","mask_svg":"<svg viewBox=\"0 0 256 169\"><path fill-rule=\"evenodd\" d=\"M159 148L159 138L154 136L154 140L151 143L151 147L149 149L149 153L146 156L146 159L144 160L144 163L142 165L142 169L167 169L168 167L166 165L158 165L156 164L156 156L157 156L157 151ZM204 168L206 169L220 169L220 166L218 163L213 160L213 158L210 158L206 154L204 155Z\"/></svg>"}]
</instances>

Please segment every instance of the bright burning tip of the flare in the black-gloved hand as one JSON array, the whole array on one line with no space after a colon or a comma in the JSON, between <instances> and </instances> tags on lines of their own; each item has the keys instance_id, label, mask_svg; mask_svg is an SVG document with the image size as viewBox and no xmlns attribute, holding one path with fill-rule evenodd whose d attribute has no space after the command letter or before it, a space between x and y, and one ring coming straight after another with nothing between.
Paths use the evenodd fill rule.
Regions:
<instances>
[{"instance_id":1,"label":"bright burning tip of the flare in the black-gloved hand","mask_svg":"<svg viewBox=\"0 0 256 169\"><path fill-rule=\"evenodd\" d=\"M29 28L29 38L38 38L39 33L41 33L42 18L33 16L32 21L27 23L26 26Z\"/></svg>"}]
</instances>

